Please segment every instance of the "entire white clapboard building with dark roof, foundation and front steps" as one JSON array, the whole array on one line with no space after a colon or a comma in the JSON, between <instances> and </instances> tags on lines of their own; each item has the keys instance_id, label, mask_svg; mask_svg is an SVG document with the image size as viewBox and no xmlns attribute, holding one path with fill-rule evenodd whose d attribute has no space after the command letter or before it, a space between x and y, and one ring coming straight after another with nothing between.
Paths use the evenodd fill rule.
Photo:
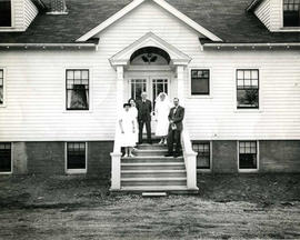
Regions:
<instances>
[{"instance_id":1,"label":"entire white clapboard building with dark roof, foundation and front steps","mask_svg":"<svg viewBox=\"0 0 300 240\"><path fill-rule=\"evenodd\" d=\"M186 108L182 158L121 157L142 91ZM299 0L0 1L1 174L194 191L197 172L299 171Z\"/></svg>"}]
</instances>

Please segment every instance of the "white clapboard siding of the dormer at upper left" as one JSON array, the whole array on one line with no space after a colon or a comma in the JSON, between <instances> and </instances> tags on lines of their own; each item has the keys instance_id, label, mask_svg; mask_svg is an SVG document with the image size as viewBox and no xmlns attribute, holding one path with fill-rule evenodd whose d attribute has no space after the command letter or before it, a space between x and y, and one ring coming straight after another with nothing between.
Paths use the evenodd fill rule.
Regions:
<instances>
[{"instance_id":1,"label":"white clapboard siding of the dormer at upper left","mask_svg":"<svg viewBox=\"0 0 300 240\"><path fill-rule=\"evenodd\" d=\"M37 7L31 0L12 0L12 28L0 28L3 31L26 31L38 14Z\"/></svg>"}]
</instances>

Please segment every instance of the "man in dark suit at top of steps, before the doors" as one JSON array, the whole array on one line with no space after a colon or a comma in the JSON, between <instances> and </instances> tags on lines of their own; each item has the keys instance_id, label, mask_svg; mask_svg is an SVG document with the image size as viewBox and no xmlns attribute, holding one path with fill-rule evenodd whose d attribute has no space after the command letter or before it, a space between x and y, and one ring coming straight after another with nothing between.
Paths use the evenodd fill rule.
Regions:
<instances>
[{"instance_id":1,"label":"man in dark suit at top of steps, before the doors","mask_svg":"<svg viewBox=\"0 0 300 240\"><path fill-rule=\"evenodd\" d=\"M152 103L147 99L147 92L141 93L141 100L137 101L138 121L139 121L139 144L142 143L142 130L146 124L147 142L152 143L151 140L151 112Z\"/></svg>"}]
</instances>

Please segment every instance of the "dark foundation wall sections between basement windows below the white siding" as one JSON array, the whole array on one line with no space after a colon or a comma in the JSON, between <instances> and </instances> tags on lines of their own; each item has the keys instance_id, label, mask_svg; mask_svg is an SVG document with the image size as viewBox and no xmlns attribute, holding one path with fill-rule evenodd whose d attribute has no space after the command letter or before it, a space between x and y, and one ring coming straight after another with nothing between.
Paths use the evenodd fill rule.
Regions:
<instances>
[{"instance_id":1,"label":"dark foundation wall sections between basement windows below the white siding","mask_svg":"<svg viewBox=\"0 0 300 240\"><path fill-rule=\"evenodd\" d=\"M64 142L13 142L13 174L66 174ZM112 141L88 142L88 176L110 177ZM237 141L212 141L216 173L237 173ZM300 172L300 141L259 141L259 172Z\"/></svg>"}]
</instances>

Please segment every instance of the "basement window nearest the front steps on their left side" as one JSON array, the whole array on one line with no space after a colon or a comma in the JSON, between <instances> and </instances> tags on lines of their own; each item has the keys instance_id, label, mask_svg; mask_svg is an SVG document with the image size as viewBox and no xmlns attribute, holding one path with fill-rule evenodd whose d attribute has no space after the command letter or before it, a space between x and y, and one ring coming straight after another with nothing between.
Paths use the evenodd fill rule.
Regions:
<instances>
[{"instance_id":1,"label":"basement window nearest the front steps on their left side","mask_svg":"<svg viewBox=\"0 0 300 240\"><path fill-rule=\"evenodd\" d=\"M87 170L87 148L86 142L67 143L67 171L86 172Z\"/></svg>"}]
</instances>

